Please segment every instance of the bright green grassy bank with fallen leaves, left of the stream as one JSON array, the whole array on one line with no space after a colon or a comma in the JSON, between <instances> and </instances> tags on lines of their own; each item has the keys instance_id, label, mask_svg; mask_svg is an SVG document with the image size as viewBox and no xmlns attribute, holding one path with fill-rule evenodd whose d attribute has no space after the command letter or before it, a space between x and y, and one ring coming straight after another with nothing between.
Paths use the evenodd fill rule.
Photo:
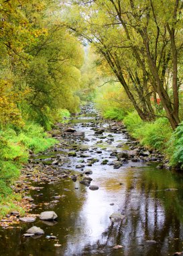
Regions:
<instances>
[{"instance_id":1,"label":"bright green grassy bank with fallen leaves, left of the stream","mask_svg":"<svg viewBox=\"0 0 183 256\"><path fill-rule=\"evenodd\" d=\"M13 193L11 185L19 179L20 170L29 158L29 150L42 152L56 142L35 123L27 123L22 129L0 131L0 216L12 210L23 211L13 203L20 200L21 195Z\"/></svg>"}]
</instances>

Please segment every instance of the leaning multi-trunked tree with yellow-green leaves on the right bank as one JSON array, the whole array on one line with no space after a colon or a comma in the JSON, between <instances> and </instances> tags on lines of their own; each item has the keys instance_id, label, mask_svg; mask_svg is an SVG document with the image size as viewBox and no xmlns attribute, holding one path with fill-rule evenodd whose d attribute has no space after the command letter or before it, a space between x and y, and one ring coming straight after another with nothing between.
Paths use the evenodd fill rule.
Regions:
<instances>
[{"instance_id":1,"label":"leaning multi-trunked tree with yellow-green leaves on the right bank","mask_svg":"<svg viewBox=\"0 0 183 256\"><path fill-rule=\"evenodd\" d=\"M141 119L155 117L149 95L158 94L175 129L180 122L178 59L182 51L182 1L72 1L72 7L76 15L75 19L67 18L68 26L92 42L105 57ZM125 61L129 60L125 65L122 55ZM135 69L129 69L131 63L135 63ZM168 72L173 78L166 88Z\"/></svg>"}]
</instances>

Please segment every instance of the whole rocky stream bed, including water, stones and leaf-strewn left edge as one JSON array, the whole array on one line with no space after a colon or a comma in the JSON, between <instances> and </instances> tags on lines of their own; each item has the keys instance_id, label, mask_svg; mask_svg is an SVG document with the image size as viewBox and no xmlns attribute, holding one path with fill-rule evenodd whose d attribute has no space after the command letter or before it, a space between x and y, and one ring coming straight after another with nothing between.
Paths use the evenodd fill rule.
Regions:
<instances>
[{"instance_id":1,"label":"whole rocky stream bed, including water, stones and leaf-strewn left edge","mask_svg":"<svg viewBox=\"0 0 183 256\"><path fill-rule=\"evenodd\" d=\"M122 123L103 120L93 105L50 134L59 143L42 154L30 152L13 186L23 195L27 214L22 219L15 211L2 220L0 255L183 250L182 175L162 169L160 153L139 146ZM58 218L40 219L50 211ZM33 226L42 234L25 236Z\"/></svg>"}]
</instances>

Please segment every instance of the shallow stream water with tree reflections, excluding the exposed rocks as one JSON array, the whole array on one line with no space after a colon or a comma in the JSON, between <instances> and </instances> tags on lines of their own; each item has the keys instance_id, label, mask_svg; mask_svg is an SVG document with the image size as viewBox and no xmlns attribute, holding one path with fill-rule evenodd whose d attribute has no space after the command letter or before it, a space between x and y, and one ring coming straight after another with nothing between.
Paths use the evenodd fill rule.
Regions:
<instances>
[{"instance_id":1,"label":"shallow stream water with tree reflections, excluding the exposed rocks","mask_svg":"<svg viewBox=\"0 0 183 256\"><path fill-rule=\"evenodd\" d=\"M79 180L73 182L71 179L42 185L34 183L34 186L44 188L42 196L36 196L40 193L38 191L31 191L37 205L32 212L40 214L53 210L58 215L58 221L42 222L37 218L34 224L19 223L13 228L1 228L0 255L156 256L183 251L182 174L159 170L157 162L129 161L114 169L114 159L110 154L114 150L128 148L126 133L95 135L95 125L108 127L109 124L103 123L93 110L91 115L80 115L70 122L76 131L84 132L84 138L66 137L68 147L60 147L59 154L67 156L70 148L74 151L76 146L82 150L76 151L77 156L69 157L60 168L72 170L72 174L79 176L83 171L76 166L84 164L84 170L93 171L91 184L99 186L99 190L91 191ZM119 143L123 145L116 148ZM54 154L58 152L49 151L35 158L42 161L54 157ZM87 166L90 158L99 162ZM101 164L103 160L108 160L108 164ZM56 195L61 197L54 202ZM123 214L125 218L121 222L111 222L109 216L114 212ZM31 226L39 226L45 234L23 237ZM57 239L46 238L50 234ZM114 249L115 245L122 247Z\"/></svg>"}]
</instances>

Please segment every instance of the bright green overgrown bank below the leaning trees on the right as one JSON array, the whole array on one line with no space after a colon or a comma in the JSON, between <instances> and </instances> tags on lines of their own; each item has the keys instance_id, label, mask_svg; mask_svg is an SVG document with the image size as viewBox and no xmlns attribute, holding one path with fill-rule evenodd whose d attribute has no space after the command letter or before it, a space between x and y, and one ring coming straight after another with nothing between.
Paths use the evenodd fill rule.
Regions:
<instances>
[{"instance_id":1,"label":"bright green overgrown bank below the leaning trees on the right","mask_svg":"<svg viewBox=\"0 0 183 256\"><path fill-rule=\"evenodd\" d=\"M101 108L100 108L101 109ZM183 122L172 131L166 117L154 122L142 121L135 111L127 113L123 108L102 109L103 117L123 121L129 134L139 143L151 150L157 150L170 160L173 168L183 169Z\"/></svg>"}]
</instances>

